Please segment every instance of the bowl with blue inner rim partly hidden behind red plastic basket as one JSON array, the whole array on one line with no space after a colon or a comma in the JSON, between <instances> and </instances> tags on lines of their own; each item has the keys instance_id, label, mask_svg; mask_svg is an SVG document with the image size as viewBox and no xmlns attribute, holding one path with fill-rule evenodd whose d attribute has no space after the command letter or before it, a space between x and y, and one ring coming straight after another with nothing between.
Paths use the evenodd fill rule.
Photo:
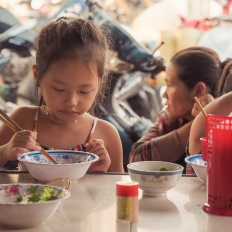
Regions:
<instances>
[{"instance_id":1,"label":"bowl with blue inner rim partly hidden behind red plastic basket","mask_svg":"<svg viewBox=\"0 0 232 232\"><path fill-rule=\"evenodd\" d=\"M190 164L195 171L197 177L207 183L207 164L202 160L201 154L192 155L185 158L185 162Z\"/></svg>"}]
</instances>

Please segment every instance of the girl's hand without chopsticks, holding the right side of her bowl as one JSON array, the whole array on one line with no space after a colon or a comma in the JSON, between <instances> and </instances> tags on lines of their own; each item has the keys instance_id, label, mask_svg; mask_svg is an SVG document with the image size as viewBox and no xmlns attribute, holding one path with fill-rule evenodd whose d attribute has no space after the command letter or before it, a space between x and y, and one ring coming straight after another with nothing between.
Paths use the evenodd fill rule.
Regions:
<instances>
[{"instance_id":1,"label":"girl's hand without chopsticks, holding the right side of her bowl","mask_svg":"<svg viewBox=\"0 0 232 232\"><path fill-rule=\"evenodd\" d=\"M110 167L110 156L101 139L93 139L86 146L86 151L99 156L99 160L92 163L88 172L106 172Z\"/></svg>"}]
</instances>

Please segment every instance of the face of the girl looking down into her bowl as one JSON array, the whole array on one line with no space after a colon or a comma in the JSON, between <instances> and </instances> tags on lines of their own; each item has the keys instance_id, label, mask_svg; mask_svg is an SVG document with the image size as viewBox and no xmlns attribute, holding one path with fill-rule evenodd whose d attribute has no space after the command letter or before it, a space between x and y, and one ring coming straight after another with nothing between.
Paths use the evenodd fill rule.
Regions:
<instances>
[{"instance_id":1,"label":"face of the girl looking down into her bowl","mask_svg":"<svg viewBox=\"0 0 232 232\"><path fill-rule=\"evenodd\" d=\"M39 85L48 112L61 121L70 122L90 109L99 83L96 65L88 69L79 59L66 59L52 64Z\"/></svg>"}]
</instances>

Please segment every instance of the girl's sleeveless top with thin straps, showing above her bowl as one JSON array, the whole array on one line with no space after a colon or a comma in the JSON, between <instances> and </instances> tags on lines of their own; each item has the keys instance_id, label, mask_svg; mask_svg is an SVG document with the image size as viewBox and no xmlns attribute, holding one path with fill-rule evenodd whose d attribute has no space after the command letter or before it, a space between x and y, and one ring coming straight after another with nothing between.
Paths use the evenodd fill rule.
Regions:
<instances>
[{"instance_id":1,"label":"girl's sleeveless top with thin straps, showing above her bowl","mask_svg":"<svg viewBox=\"0 0 232 232\"><path fill-rule=\"evenodd\" d=\"M38 107L38 110L36 110L36 114L35 114L35 118L34 118L34 123L33 123L33 131L37 131L37 128L38 128L38 119L39 119L39 107ZM91 138L93 136L93 133L94 133L95 128L97 126L97 122L98 122L98 118L94 117L93 125L91 127L91 130L89 132L89 135L88 135L88 137L86 139L85 144L79 144L79 145L76 145L75 147L72 147L72 148L63 148L63 150L86 151L86 145L89 143L89 141L91 140ZM41 144L40 144L40 146L43 149L45 149L45 150L56 150L54 148L42 146ZM59 149L59 150L61 150L61 149Z\"/></svg>"}]
</instances>

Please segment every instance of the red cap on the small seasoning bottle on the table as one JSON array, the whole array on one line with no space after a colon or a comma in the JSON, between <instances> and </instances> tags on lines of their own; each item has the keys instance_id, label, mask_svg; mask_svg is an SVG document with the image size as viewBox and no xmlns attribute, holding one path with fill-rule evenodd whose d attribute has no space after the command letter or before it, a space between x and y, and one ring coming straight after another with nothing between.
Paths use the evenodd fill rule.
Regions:
<instances>
[{"instance_id":1,"label":"red cap on the small seasoning bottle on the table","mask_svg":"<svg viewBox=\"0 0 232 232\"><path fill-rule=\"evenodd\" d=\"M121 197L135 197L138 196L139 183L138 182L117 182L116 195Z\"/></svg>"}]
</instances>

